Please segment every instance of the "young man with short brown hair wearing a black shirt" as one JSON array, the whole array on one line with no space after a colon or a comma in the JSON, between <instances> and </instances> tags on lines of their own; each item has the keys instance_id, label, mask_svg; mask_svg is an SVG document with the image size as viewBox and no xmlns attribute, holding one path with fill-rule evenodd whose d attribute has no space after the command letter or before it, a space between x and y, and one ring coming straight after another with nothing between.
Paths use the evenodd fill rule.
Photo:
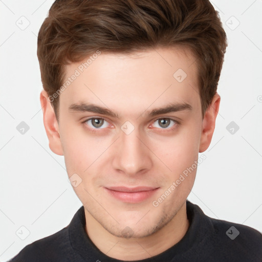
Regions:
<instances>
[{"instance_id":1,"label":"young man with short brown hair wearing a black shirt","mask_svg":"<svg viewBox=\"0 0 262 262\"><path fill-rule=\"evenodd\" d=\"M38 35L50 148L83 206L11 261L262 261L262 235L189 201L226 34L208 1L56 1Z\"/></svg>"}]
</instances>

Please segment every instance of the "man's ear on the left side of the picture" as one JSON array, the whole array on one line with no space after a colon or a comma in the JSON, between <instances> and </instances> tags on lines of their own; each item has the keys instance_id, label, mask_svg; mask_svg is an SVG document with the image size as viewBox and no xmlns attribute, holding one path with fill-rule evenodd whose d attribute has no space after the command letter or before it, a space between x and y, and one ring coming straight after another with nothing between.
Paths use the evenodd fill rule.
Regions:
<instances>
[{"instance_id":1,"label":"man's ear on the left side of the picture","mask_svg":"<svg viewBox=\"0 0 262 262\"><path fill-rule=\"evenodd\" d=\"M54 108L45 90L42 90L40 93L40 103L43 112L43 124L45 125L49 140L49 147L56 155L63 156L58 122L56 120Z\"/></svg>"}]
</instances>

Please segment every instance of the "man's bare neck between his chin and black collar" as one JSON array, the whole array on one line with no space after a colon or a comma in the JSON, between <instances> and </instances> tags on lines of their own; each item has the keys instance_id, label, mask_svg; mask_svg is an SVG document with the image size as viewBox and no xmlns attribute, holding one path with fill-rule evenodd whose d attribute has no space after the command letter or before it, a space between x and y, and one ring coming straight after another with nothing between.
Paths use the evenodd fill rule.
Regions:
<instances>
[{"instance_id":1,"label":"man's bare neck between his chin and black collar","mask_svg":"<svg viewBox=\"0 0 262 262\"><path fill-rule=\"evenodd\" d=\"M159 231L141 238L112 235L85 209L86 233L95 246L107 256L119 260L141 260L158 255L177 244L189 227L186 203L172 220Z\"/></svg>"}]
</instances>

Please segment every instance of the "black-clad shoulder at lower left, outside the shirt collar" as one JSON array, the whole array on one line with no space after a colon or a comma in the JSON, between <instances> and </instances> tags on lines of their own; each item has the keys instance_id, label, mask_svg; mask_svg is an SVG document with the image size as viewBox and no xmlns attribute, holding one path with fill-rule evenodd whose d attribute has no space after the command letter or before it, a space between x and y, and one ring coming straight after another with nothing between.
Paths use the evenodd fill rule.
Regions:
<instances>
[{"instance_id":1,"label":"black-clad shoulder at lower left, outside the shirt collar","mask_svg":"<svg viewBox=\"0 0 262 262\"><path fill-rule=\"evenodd\" d=\"M8 262L60 261L63 254L70 248L68 227L65 227L50 236L27 245Z\"/></svg>"}]
</instances>

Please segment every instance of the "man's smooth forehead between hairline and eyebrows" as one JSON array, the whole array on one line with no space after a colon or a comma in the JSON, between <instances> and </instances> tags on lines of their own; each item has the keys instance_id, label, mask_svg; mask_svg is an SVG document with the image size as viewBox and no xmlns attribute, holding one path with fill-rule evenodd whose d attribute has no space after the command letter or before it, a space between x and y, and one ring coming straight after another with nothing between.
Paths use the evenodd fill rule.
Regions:
<instances>
[{"instance_id":1,"label":"man's smooth forehead between hairline and eyebrows","mask_svg":"<svg viewBox=\"0 0 262 262\"><path fill-rule=\"evenodd\" d=\"M126 113L172 102L200 103L195 58L181 47L91 54L65 67L65 81L70 83L60 94L63 110L79 101Z\"/></svg>"}]
</instances>

